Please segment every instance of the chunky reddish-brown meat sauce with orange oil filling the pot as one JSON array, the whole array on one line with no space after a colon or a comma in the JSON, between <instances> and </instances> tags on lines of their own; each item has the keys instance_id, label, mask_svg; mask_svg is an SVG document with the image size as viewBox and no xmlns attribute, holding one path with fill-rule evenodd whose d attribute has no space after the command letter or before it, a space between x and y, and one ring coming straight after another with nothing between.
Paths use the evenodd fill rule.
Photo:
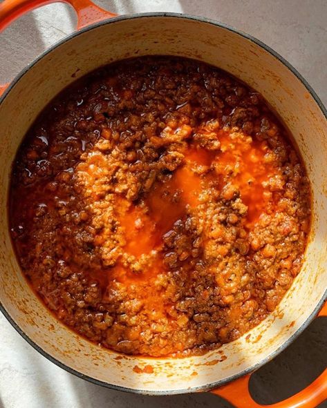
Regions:
<instances>
[{"instance_id":1,"label":"chunky reddish-brown meat sauce with orange oil filling the pot","mask_svg":"<svg viewBox=\"0 0 327 408\"><path fill-rule=\"evenodd\" d=\"M301 269L310 187L259 93L142 57L77 81L15 159L10 232L57 318L115 351L189 356L239 338Z\"/></svg>"}]
</instances>

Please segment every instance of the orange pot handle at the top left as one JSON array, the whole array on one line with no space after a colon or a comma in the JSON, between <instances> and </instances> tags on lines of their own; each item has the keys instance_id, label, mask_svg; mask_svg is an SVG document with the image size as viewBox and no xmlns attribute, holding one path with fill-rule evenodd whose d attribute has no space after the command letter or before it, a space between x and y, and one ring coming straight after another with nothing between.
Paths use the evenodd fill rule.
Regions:
<instances>
[{"instance_id":1,"label":"orange pot handle at the top left","mask_svg":"<svg viewBox=\"0 0 327 408\"><path fill-rule=\"evenodd\" d=\"M88 26L88 24L110 19L117 15L96 6L91 0L4 0L0 3L0 32L21 15L57 1L69 3L73 6L77 14L77 30ZM0 85L0 96L8 88L8 85Z\"/></svg>"}]
</instances>

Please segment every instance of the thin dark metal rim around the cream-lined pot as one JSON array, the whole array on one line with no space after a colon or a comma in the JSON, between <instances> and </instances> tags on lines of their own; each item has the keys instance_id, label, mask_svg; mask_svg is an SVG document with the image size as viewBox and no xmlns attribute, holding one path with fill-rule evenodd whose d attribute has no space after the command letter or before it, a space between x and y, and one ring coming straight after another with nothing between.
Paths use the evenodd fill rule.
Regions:
<instances>
[{"instance_id":1,"label":"thin dark metal rim around the cream-lined pot","mask_svg":"<svg viewBox=\"0 0 327 408\"><path fill-rule=\"evenodd\" d=\"M123 21L123 20L129 20L129 19L138 19L138 18L147 18L147 17L173 17L173 18L189 19L189 20L193 20L193 21L199 21L200 23L208 23L208 24L212 24L212 26L218 26L220 28L224 28L225 30L233 32L234 34L237 34L237 35L239 35L239 36L241 36L241 37L243 37L243 38L245 38L247 40L252 41L253 43L256 44L256 46L259 46L259 47L263 48L265 51L269 52L273 57L275 57L276 59L281 61L281 63L284 66L286 66L286 68L288 68L288 70L290 70L292 72L292 74L295 75L295 77L297 77L297 79L299 79L299 81L301 81L301 83L306 87L306 89L308 90L308 93L310 93L312 98L315 100L316 104L319 106L321 112L323 113L324 117L327 120L327 109L325 108L325 106L322 103L321 99L318 97L317 93L315 93L315 90L313 90L313 88L310 86L310 84L308 84L308 81L306 81L306 79L304 79L302 77L302 75L285 58L283 58L281 55L279 55L278 52L276 52L272 48L270 48L270 46L267 46L265 43L263 43L259 39L256 39L255 37L252 37L252 35L248 35L247 33L243 32L242 30L237 30L236 28L233 28L233 27L231 27L231 26L229 26L229 25L227 25L225 23L215 21L214 19L209 19L207 17L194 16L194 15L185 14L185 13L176 13L176 12L145 12L145 13L123 14L122 16L111 17L109 19L106 19L106 20L103 20L103 21L100 21L100 22L97 22L97 23L91 23L90 25L88 25L88 26L86 26L86 27L84 27L84 28L82 28L82 29L80 29L78 31L72 32L70 35L67 35L66 37L64 37L64 39L62 39L60 41L57 41L56 43L53 44L53 46L50 46L47 50L42 52L37 58L35 58L32 62L30 62L25 68L23 68L21 70L21 72L19 72L19 74L16 75L15 79L13 79L10 82L8 88L6 88L6 90L4 91L3 95L1 95L0 105L3 102L3 100L6 99L8 93L10 93L10 90L15 86L15 84L17 84L19 79L21 79L21 77L24 77L26 72L28 72L28 70L30 68L32 68L32 66L37 64L37 62L39 60L41 60L43 57L45 57L46 55L48 55L48 53L55 50L55 48L58 48L59 46L62 46L62 44L66 43L66 41L70 41L71 39L77 37L78 35L83 34L84 32L88 32L90 30L93 30L93 28L104 26L106 24L115 23L117 21ZM176 389L176 390L169 390L169 391L168 390L149 391L147 389L132 389L132 388L128 388L128 387L122 387L120 385L113 385L113 384L110 384L109 382L104 382L104 381L101 381L101 380L97 380L96 378L86 376L85 374L80 373L80 371L76 371L75 369L69 367L68 365L64 364L63 362L57 360L56 358L51 356L50 353L48 353L47 351L44 351L44 349L39 347L39 345L36 344L31 338L29 338L28 335L19 327L19 325L15 322L15 320L13 320L11 318L10 314L8 313L8 311L6 311L6 309L3 306L3 304L1 303L1 301L0 301L0 311L3 313L3 315L8 320L8 322L10 322L12 327L14 327L14 329L21 335L21 337L23 337L36 351L38 351L42 356L44 356L45 358L50 360L50 362L53 362L58 367L68 371L68 373L71 373L71 374L73 374L73 375L75 375L75 376L77 376L79 378L87 380L88 382L92 382L95 385L100 385L102 387L113 389L115 391L125 391L125 392L130 392L130 393L133 393L133 394L142 394L142 395L149 395L149 396L168 396L168 395L176 395L176 394L189 394L189 393L194 393L194 392L198 392L198 391L209 391L211 389L216 389L218 387L221 387L222 385L225 385L228 382L232 382L232 381L236 380L237 378L243 377L246 374L252 373L253 371L256 371L257 369L259 369L260 367L265 365L267 362L272 360L274 357L276 357L279 353L281 353L281 351L286 349L286 347L288 347L302 333L302 331L304 329L306 329L306 327L308 327L310 322L312 322L312 320L315 318L315 316L319 312L319 309L321 309L324 302L326 302L326 301L327 301L327 289L326 289L324 295L322 296L321 300L317 303L317 306L315 307L314 311L312 311L312 313L306 319L306 321L303 322L301 327L299 327L299 329L297 329L297 331L295 331L295 333L293 333L292 336L290 336L290 338L288 338L288 340L283 342L283 344L279 348L274 350L272 353L269 354L269 356L267 356L266 358L263 358L263 360L256 363L252 367L247 367L247 369L243 369L242 371L235 374L234 376L224 378L223 380L219 380L219 381L216 381L216 382L210 382L207 385L200 385L198 387L190 387L190 388L186 388L186 389Z\"/></svg>"}]
</instances>

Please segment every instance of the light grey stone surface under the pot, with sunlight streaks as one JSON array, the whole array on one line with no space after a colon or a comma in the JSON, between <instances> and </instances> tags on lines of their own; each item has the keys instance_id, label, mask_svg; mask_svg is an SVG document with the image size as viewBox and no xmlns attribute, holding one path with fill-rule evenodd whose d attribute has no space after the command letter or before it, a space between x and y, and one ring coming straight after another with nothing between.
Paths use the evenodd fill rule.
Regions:
<instances>
[{"instance_id":1,"label":"light grey stone surface under the pot, with sunlight streaks","mask_svg":"<svg viewBox=\"0 0 327 408\"><path fill-rule=\"evenodd\" d=\"M170 11L210 17L261 39L299 70L327 104L327 0L102 0L118 14ZM21 17L0 35L0 83L10 81L50 45L74 30L62 3ZM301 389L327 367L327 318L315 321L282 356L252 378L259 402ZM112 391L53 365L0 315L0 408L230 408L211 394L149 397ZM327 408L327 402L320 407Z\"/></svg>"}]
</instances>

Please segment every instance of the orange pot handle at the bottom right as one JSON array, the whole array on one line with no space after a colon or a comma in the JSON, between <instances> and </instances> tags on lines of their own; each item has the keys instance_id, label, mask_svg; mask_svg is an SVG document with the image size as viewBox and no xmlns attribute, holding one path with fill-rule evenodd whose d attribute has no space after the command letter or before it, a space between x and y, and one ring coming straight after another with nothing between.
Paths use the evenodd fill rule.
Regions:
<instances>
[{"instance_id":1,"label":"orange pot handle at the bottom right","mask_svg":"<svg viewBox=\"0 0 327 408\"><path fill-rule=\"evenodd\" d=\"M318 316L327 316L327 302ZM299 393L272 405L261 405L254 401L249 391L250 376L251 374L239 378L211 392L225 398L236 408L316 408L321 402L327 400L327 369Z\"/></svg>"}]
</instances>

